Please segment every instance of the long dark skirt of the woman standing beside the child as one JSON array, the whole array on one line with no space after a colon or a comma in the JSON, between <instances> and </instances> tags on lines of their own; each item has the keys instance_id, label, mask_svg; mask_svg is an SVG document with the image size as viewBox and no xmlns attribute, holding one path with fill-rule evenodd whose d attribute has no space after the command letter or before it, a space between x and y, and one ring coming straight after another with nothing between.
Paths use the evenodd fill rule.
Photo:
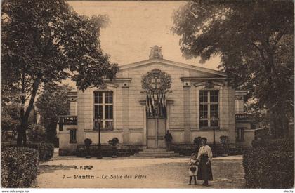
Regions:
<instances>
[{"instance_id":1,"label":"long dark skirt of the woman standing beside the child","mask_svg":"<svg viewBox=\"0 0 295 193\"><path fill-rule=\"evenodd\" d=\"M206 164L207 161L208 161L208 155L202 154L201 160L199 161L199 168L197 170L198 180L213 180L211 163L207 165Z\"/></svg>"}]
</instances>

